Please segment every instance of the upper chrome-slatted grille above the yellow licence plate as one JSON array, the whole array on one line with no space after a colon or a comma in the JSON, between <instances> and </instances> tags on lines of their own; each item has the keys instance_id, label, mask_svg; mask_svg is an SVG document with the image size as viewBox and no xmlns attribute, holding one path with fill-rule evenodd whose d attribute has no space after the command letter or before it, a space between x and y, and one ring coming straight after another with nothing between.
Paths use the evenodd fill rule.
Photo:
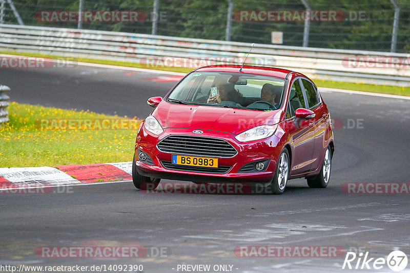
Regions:
<instances>
[{"instance_id":1,"label":"upper chrome-slatted grille above the yellow licence plate","mask_svg":"<svg viewBox=\"0 0 410 273\"><path fill-rule=\"evenodd\" d=\"M227 141L196 135L170 135L157 147L162 152L194 156L232 157L238 153Z\"/></svg>"}]
</instances>

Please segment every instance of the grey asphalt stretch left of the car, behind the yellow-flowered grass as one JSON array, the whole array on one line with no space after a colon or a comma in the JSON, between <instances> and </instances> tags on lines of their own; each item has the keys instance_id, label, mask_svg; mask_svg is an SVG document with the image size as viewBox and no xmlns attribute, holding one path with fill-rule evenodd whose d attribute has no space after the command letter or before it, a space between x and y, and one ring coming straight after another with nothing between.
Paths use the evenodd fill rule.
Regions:
<instances>
[{"instance_id":1,"label":"grey asphalt stretch left of the car, behind the yellow-flowered grass","mask_svg":"<svg viewBox=\"0 0 410 273\"><path fill-rule=\"evenodd\" d=\"M164 74L75 65L59 69L0 69L12 100L108 115L145 118L147 98L165 96L175 81L147 80Z\"/></svg>"}]
</instances>

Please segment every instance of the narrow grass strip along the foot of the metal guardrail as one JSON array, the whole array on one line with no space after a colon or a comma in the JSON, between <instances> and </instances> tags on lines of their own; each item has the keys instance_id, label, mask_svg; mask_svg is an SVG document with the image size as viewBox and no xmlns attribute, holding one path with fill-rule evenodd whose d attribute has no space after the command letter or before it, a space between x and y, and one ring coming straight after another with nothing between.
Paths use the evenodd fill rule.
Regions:
<instances>
[{"instance_id":1,"label":"narrow grass strip along the foot of the metal guardrail","mask_svg":"<svg viewBox=\"0 0 410 273\"><path fill-rule=\"evenodd\" d=\"M192 71L191 68L186 67L173 67L173 66L155 66L147 67L144 64L133 63L133 62L120 62L120 61L111 61L111 60L98 60L98 59L88 59L88 58L74 58L74 57L61 57L56 55L46 55L39 53L25 53L25 52L15 52L15 51L0 51L3 54L11 55L21 55L21 56L30 56L30 57L43 57L51 59L69 59L77 62L90 62L90 63L99 63L99 64L109 64L109 65L120 65L120 66L129 66L137 67L143 69L154 69L161 71L172 71L180 73L188 73ZM108 57L109 58L109 57ZM410 96L410 87L400 87L400 86L390 86L390 85L375 85L375 84L364 84L364 83L351 83L351 82L337 82L337 81L326 81L326 80L315 80L315 83L319 87L330 87L338 89L348 89L356 90L363 92L373 92L373 93L382 93L382 94L392 94L392 95L401 95L401 96Z\"/></svg>"}]
</instances>

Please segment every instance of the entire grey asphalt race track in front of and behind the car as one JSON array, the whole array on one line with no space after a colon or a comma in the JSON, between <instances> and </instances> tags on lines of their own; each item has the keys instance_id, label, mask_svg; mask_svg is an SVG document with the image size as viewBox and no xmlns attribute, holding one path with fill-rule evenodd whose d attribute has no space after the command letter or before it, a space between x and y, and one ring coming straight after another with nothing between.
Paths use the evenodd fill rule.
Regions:
<instances>
[{"instance_id":1,"label":"entire grey asphalt race track in front of and behind the car","mask_svg":"<svg viewBox=\"0 0 410 273\"><path fill-rule=\"evenodd\" d=\"M129 73L85 66L0 70L0 82L11 87L16 102L144 118L151 111L146 99L165 95L174 82L146 80L161 76L153 73ZM330 92L322 96L338 127L326 189L310 189L304 179L296 179L282 195L147 194L124 181L71 186L70 193L0 194L0 264L142 264L144 272L177 272L178 264L227 264L233 265L232 272L392 272L386 265L343 270L345 256L234 255L237 246L341 246L369 252L372 258L386 258L399 249L410 258L408 194L342 191L344 183L409 182L410 101ZM128 244L167 247L168 255L35 255L41 246Z\"/></svg>"}]
</instances>

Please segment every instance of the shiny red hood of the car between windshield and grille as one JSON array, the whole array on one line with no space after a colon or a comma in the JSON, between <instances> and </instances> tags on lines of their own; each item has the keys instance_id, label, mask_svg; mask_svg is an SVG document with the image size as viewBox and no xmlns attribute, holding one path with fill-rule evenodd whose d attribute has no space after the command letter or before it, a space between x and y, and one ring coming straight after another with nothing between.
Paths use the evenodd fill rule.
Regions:
<instances>
[{"instance_id":1,"label":"shiny red hood of the car between windshield and grille","mask_svg":"<svg viewBox=\"0 0 410 273\"><path fill-rule=\"evenodd\" d=\"M259 125L279 122L282 110L257 111L218 106L175 104L162 101L153 111L162 128L191 128L241 133Z\"/></svg>"}]
</instances>

